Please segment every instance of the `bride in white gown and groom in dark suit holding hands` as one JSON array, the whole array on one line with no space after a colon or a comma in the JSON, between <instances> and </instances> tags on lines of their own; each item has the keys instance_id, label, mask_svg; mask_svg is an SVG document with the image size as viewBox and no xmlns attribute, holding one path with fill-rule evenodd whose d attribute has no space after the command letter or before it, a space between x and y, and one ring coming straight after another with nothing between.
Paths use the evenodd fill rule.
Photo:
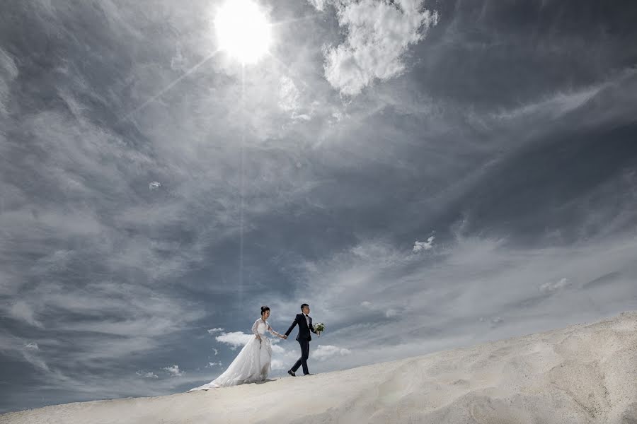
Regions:
<instances>
[{"instance_id":1,"label":"bride in white gown and groom in dark suit holding hands","mask_svg":"<svg viewBox=\"0 0 637 424\"><path fill-rule=\"evenodd\" d=\"M272 342L268 338L266 332L287 339L295 326L299 326L299 334L297 341L301 347L301 357L292 365L287 373L296 377L296 371L299 367L303 368L304 375L311 375L307 367L307 358L309 357L309 342L312 339L310 331L320 336L320 332L314 329L312 318L309 316L309 305L304 303L301 305L301 312L294 317L294 322L285 331L285 334L279 334L272 329L268 318L270 317L270 308L261 307L261 317L254 322L252 332L255 335L241 349L239 355L232 361L229 367L212 382L195 387L189 391L207 390L215 387L236 386L237 384L263 381L268 378L272 363Z\"/></svg>"}]
</instances>

